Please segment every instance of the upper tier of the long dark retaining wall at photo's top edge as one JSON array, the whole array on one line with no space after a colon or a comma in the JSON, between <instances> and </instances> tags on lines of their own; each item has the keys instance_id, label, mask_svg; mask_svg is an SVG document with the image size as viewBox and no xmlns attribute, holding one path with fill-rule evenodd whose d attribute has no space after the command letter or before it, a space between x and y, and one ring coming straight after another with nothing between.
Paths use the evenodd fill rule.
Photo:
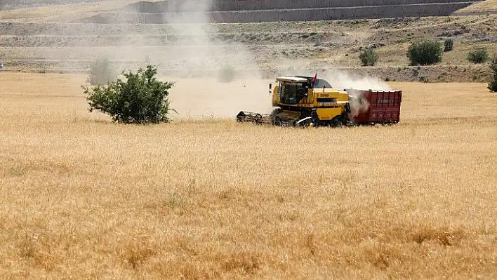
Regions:
<instances>
[{"instance_id":1,"label":"upper tier of the long dark retaining wall at photo's top edge","mask_svg":"<svg viewBox=\"0 0 497 280\"><path fill-rule=\"evenodd\" d=\"M390 6L390 5L412 5L412 4L441 4L456 2L477 2L480 0L215 0L211 3L206 1L184 1L169 0L160 2L142 1L131 4L125 8L126 11L139 13L177 13L194 11L253 11L274 10L290 8L338 8L338 7L360 7L360 6Z\"/></svg>"}]
</instances>

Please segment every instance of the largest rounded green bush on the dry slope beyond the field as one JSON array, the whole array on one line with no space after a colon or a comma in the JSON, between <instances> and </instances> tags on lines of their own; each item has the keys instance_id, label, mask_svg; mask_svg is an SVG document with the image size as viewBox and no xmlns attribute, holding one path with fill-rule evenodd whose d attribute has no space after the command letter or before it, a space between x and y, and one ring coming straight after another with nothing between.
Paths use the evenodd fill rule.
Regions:
<instances>
[{"instance_id":1,"label":"largest rounded green bush on the dry slope beyond the field","mask_svg":"<svg viewBox=\"0 0 497 280\"><path fill-rule=\"evenodd\" d=\"M416 41L407 50L411 65L432 65L442 61L442 44L439 41Z\"/></svg>"}]
</instances>

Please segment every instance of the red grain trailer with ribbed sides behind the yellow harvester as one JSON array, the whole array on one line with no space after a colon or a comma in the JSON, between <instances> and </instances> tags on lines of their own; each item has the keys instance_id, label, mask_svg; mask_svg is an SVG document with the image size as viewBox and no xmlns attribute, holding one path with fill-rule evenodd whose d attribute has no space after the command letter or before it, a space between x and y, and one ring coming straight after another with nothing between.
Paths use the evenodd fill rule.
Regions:
<instances>
[{"instance_id":1,"label":"red grain trailer with ribbed sides behind the yellow harvester","mask_svg":"<svg viewBox=\"0 0 497 280\"><path fill-rule=\"evenodd\" d=\"M397 124L400 121L402 91L347 89L349 119L357 125Z\"/></svg>"}]
</instances>

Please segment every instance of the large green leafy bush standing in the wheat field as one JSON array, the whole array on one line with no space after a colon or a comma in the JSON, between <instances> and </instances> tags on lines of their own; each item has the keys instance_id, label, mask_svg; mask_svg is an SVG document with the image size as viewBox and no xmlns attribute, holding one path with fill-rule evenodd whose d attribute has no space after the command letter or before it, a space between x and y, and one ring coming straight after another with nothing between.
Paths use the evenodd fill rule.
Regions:
<instances>
[{"instance_id":1,"label":"large green leafy bush standing in the wheat field","mask_svg":"<svg viewBox=\"0 0 497 280\"><path fill-rule=\"evenodd\" d=\"M158 81L157 67L152 65L138 69L136 74L122 74L126 81L117 79L93 88L83 86L90 112L100 110L125 124L168 122L167 114L172 109L166 97L173 83Z\"/></svg>"}]
</instances>

